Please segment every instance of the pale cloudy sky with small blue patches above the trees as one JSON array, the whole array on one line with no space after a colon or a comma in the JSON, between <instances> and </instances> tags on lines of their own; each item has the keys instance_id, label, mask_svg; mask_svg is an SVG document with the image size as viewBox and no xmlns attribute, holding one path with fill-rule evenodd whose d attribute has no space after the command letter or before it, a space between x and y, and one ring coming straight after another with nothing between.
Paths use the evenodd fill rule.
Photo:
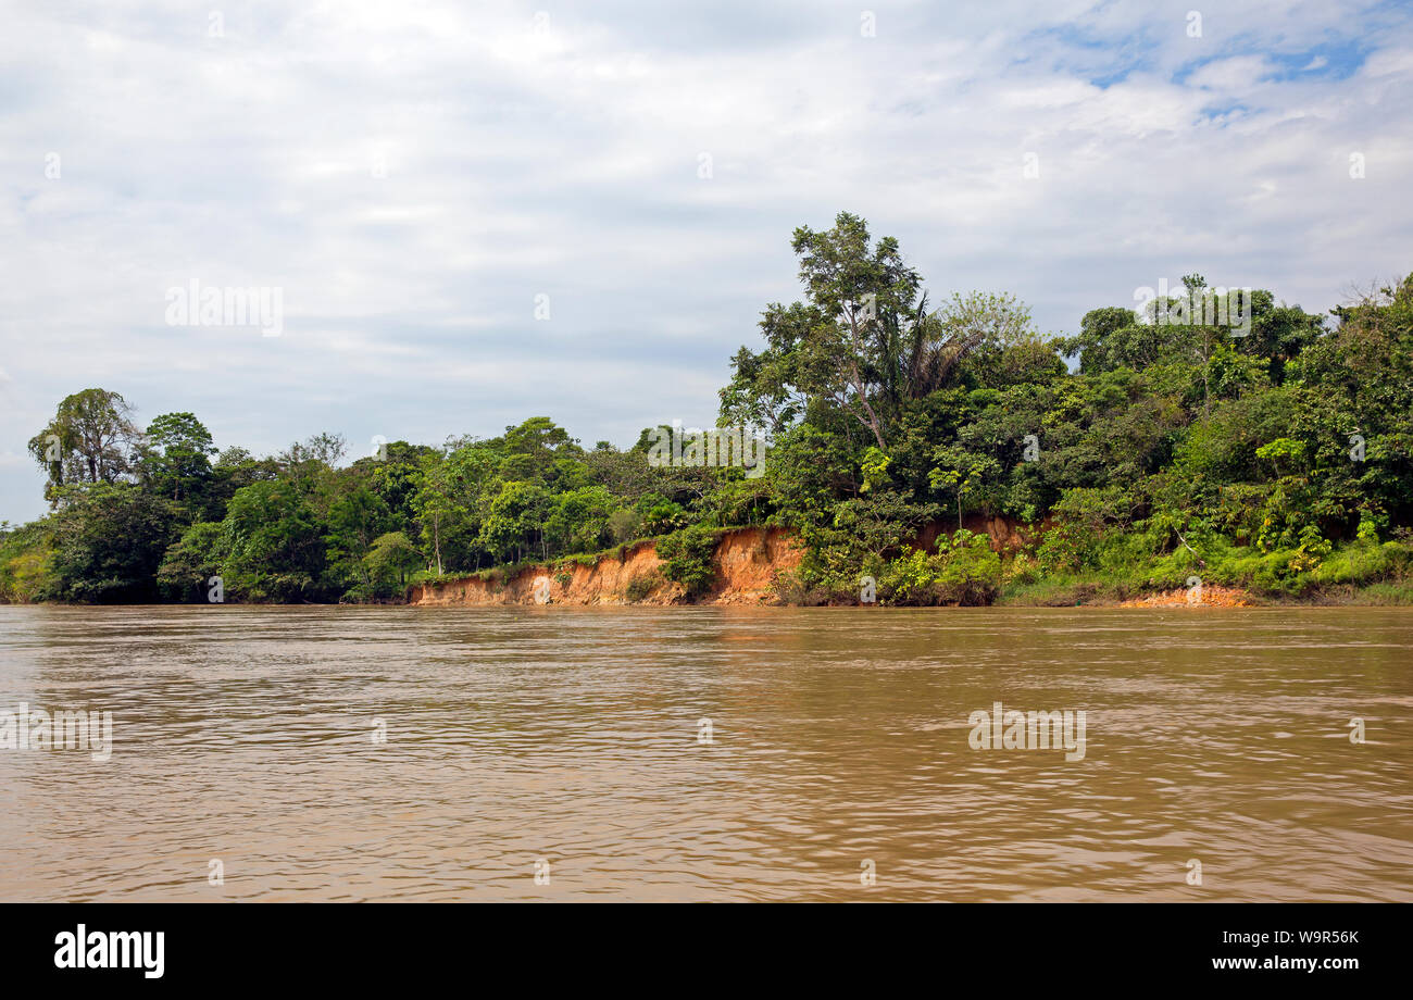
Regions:
<instances>
[{"instance_id":1,"label":"pale cloudy sky with small blue patches above the trees","mask_svg":"<svg viewBox=\"0 0 1413 1000\"><path fill-rule=\"evenodd\" d=\"M1410 179L1406 3L0 0L0 520L93 386L256 453L627 446L714 422L841 210L1072 333L1407 274ZM278 336L172 322L192 282Z\"/></svg>"}]
</instances>

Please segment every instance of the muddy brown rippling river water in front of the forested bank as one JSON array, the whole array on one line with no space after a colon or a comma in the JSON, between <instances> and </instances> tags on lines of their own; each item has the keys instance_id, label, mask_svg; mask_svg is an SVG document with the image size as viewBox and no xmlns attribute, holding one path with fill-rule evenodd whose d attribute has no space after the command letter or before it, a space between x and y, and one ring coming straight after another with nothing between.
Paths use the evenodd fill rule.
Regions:
<instances>
[{"instance_id":1,"label":"muddy brown rippling river water in front of the forested bank","mask_svg":"<svg viewBox=\"0 0 1413 1000\"><path fill-rule=\"evenodd\" d=\"M1395 609L0 607L0 712L114 720L106 763L0 750L0 900L1413 900L1410 645ZM972 750L996 701L1085 710L1085 758Z\"/></svg>"}]
</instances>

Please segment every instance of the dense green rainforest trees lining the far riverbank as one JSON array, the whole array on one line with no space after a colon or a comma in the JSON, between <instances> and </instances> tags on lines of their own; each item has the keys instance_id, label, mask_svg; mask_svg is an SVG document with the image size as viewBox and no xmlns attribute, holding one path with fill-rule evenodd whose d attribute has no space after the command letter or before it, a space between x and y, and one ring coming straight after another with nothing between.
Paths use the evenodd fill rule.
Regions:
<instances>
[{"instance_id":1,"label":"dense green rainforest trees lining the far riverbank","mask_svg":"<svg viewBox=\"0 0 1413 1000\"><path fill-rule=\"evenodd\" d=\"M51 513L0 524L0 600L206 602L215 579L225 600L389 600L639 538L691 593L742 525L800 540L777 585L794 603L853 600L863 578L886 603L1075 603L1193 576L1413 600L1413 275L1324 315L1188 274L1047 336L1010 295L931 302L858 216L793 249L803 297L763 311L721 390L719 425L769 442L764 475L650 462L656 415L626 451L533 417L353 460L332 434L256 456L195 414L143 427L86 388L30 441ZM966 528L979 517L1023 544L995 551Z\"/></svg>"}]
</instances>

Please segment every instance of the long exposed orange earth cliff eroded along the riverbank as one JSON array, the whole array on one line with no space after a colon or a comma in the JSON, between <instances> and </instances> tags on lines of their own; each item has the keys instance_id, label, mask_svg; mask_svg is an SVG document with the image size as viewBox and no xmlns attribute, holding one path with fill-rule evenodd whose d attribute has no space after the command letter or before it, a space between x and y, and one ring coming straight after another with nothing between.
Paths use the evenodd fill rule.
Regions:
<instances>
[{"instance_id":1,"label":"long exposed orange earth cliff eroded along the riverbank","mask_svg":"<svg viewBox=\"0 0 1413 1000\"><path fill-rule=\"evenodd\" d=\"M729 531L716 544L716 579L692 603L774 603L770 585L783 569L800 564L800 549L781 528ZM568 581L565 581L568 575ZM595 565L548 562L528 566L513 576L482 579L468 576L438 583L414 585L411 605L677 605L687 595L680 583L661 573L657 547L640 542L622 554L605 555Z\"/></svg>"}]
</instances>

